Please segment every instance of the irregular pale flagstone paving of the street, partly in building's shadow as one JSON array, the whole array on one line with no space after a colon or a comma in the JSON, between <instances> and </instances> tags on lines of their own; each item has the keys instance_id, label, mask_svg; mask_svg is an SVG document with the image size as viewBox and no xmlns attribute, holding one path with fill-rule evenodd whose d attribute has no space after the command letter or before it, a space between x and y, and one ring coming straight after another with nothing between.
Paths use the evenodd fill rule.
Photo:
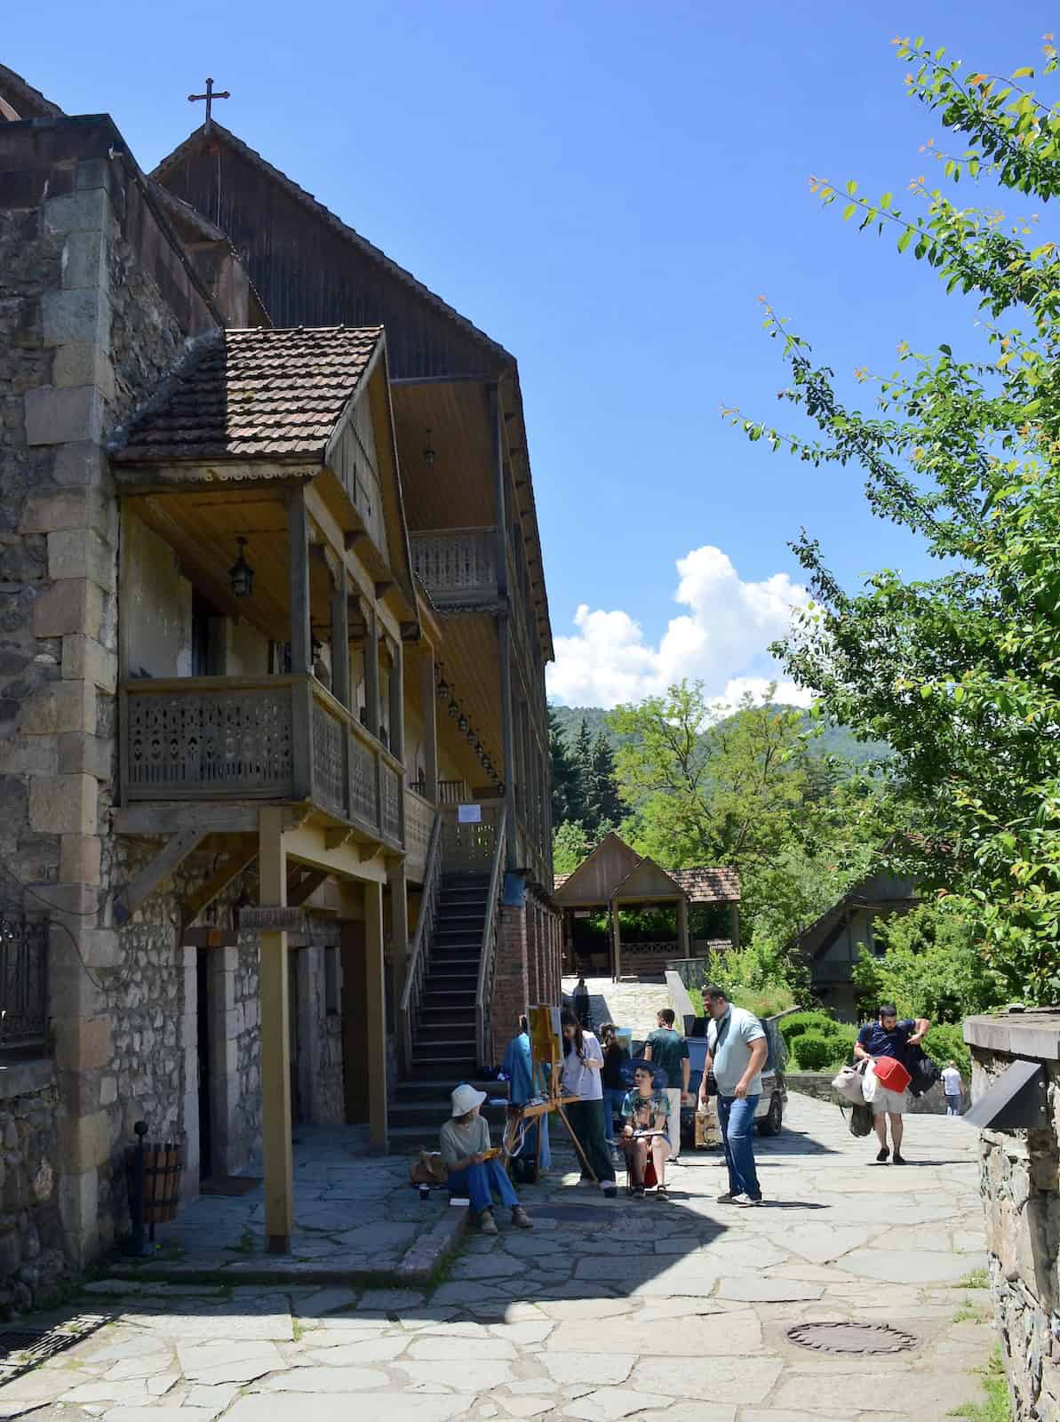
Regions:
<instances>
[{"instance_id":1,"label":"irregular pale flagstone paving of the street, partly in building's shadow","mask_svg":"<svg viewBox=\"0 0 1060 1422\"><path fill-rule=\"evenodd\" d=\"M563 1156L563 1152L557 1152ZM759 1145L766 1204L716 1203L716 1153L668 1202L605 1202L554 1173L536 1229L470 1234L432 1291L101 1280L33 1322L94 1330L0 1386L34 1422L934 1422L979 1395L992 1348L976 1287L976 1135L908 1122L875 1166L838 1111L793 1096ZM796 1347L808 1321L888 1322L912 1351Z\"/></svg>"}]
</instances>

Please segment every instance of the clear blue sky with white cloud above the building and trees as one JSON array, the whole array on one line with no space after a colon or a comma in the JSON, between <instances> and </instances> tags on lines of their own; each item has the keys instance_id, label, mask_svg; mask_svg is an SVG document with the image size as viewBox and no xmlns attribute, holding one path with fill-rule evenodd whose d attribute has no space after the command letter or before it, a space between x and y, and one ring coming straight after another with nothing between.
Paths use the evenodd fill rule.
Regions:
<instances>
[{"instance_id":1,"label":"clear blue sky with white cloud above the building and trees","mask_svg":"<svg viewBox=\"0 0 1060 1422\"><path fill-rule=\"evenodd\" d=\"M210 73L227 127L519 357L556 695L767 674L801 526L848 584L929 572L870 518L857 472L747 445L718 411L783 418L759 294L844 381L889 370L901 340L975 348L970 307L820 210L807 178L899 192L925 171L938 129L892 36L1005 73L1039 58L1050 7L189 0L107 17L17 7L0 60L68 112L111 112L145 168L200 122L186 95Z\"/></svg>"}]
</instances>

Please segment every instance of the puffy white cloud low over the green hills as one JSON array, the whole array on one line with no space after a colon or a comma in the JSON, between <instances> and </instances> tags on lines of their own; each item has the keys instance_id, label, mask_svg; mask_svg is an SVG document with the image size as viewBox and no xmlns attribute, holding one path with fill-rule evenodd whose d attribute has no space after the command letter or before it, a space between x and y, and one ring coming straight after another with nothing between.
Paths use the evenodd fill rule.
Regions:
<instances>
[{"instance_id":1,"label":"puffy white cloud low over the green hills","mask_svg":"<svg viewBox=\"0 0 1060 1422\"><path fill-rule=\"evenodd\" d=\"M791 610L808 602L787 573L745 583L732 560L705 545L678 559L674 600L688 611L672 617L658 647L645 641L627 611L583 603L575 634L556 638L548 694L567 705L612 707L666 690L682 677L702 678L708 697L732 704L746 691L763 695L776 680L770 641L783 637ZM777 698L807 705L806 691L786 681Z\"/></svg>"}]
</instances>

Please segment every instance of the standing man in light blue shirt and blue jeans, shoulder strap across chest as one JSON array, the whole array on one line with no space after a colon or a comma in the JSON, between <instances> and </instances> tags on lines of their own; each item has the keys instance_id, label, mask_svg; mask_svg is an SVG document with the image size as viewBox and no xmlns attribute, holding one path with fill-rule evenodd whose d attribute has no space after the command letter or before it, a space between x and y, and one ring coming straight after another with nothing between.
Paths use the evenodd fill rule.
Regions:
<instances>
[{"instance_id":1,"label":"standing man in light blue shirt and blue jeans, shoulder strap across chest","mask_svg":"<svg viewBox=\"0 0 1060 1422\"><path fill-rule=\"evenodd\" d=\"M703 1007L712 1021L706 1028L706 1064L699 1085L699 1106L706 1109L706 1082L718 1082L718 1119L729 1166L729 1189L719 1204L745 1209L762 1204L762 1187L755 1169L755 1108L762 1095L762 1068L769 1044L753 1012L733 1007L720 987L703 988Z\"/></svg>"}]
</instances>

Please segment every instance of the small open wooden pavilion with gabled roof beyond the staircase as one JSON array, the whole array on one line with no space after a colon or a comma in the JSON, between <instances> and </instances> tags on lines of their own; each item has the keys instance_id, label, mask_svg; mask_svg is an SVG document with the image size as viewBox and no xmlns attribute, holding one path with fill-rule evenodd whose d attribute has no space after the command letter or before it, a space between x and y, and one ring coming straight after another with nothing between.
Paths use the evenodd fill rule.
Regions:
<instances>
[{"instance_id":1,"label":"small open wooden pavilion with gabled roof beyond the staircase","mask_svg":"<svg viewBox=\"0 0 1060 1422\"><path fill-rule=\"evenodd\" d=\"M628 944L628 966L658 971L659 958L695 957L688 926L691 904L728 904L730 941L739 946L740 880L735 869L661 869L654 859L638 855L624 839L611 833L602 839L571 875L557 875L556 902L563 910L568 963L574 960L574 919L607 914L611 924L610 967L617 981L622 975L621 910L672 907L676 937L669 943Z\"/></svg>"}]
</instances>

